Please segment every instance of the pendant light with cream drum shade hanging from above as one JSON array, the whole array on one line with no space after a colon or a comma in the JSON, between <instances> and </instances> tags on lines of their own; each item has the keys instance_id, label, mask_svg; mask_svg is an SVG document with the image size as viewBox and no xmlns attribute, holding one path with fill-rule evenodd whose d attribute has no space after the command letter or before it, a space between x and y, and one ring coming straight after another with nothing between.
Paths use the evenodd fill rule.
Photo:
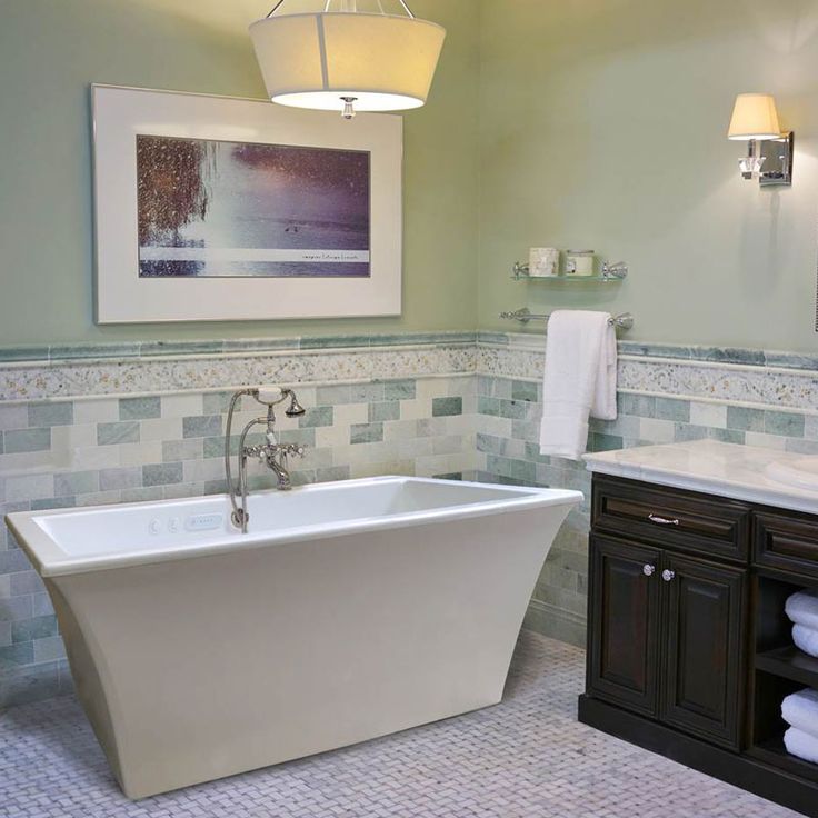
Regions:
<instances>
[{"instance_id":1,"label":"pendant light with cream drum shade hanging from above","mask_svg":"<svg viewBox=\"0 0 818 818\"><path fill-rule=\"evenodd\" d=\"M279 13L279 0L250 26L256 57L273 102L339 111L420 108L431 87L446 29L402 13L359 11L358 0L327 0L316 12ZM396 9L397 10L397 9Z\"/></svg>"}]
</instances>

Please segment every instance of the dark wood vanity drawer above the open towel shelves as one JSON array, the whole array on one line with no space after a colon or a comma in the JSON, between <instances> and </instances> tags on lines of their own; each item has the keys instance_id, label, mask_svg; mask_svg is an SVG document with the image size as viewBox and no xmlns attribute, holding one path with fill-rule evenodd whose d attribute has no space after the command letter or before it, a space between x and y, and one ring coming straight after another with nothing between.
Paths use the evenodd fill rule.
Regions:
<instances>
[{"instance_id":1,"label":"dark wood vanity drawer above the open towel shelves","mask_svg":"<svg viewBox=\"0 0 818 818\"><path fill-rule=\"evenodd\" d=\"M818 517L756 511L752 541L758 565L818 577Z\"/></svg>"}]
</instances>

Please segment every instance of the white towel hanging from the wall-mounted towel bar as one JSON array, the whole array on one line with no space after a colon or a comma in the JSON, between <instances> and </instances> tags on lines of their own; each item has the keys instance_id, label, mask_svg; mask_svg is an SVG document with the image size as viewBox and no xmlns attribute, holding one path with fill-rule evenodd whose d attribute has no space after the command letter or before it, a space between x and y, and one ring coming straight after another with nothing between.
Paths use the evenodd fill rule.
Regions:
<instances>
[{"instance_id":1,"label":"white towel hanging from the wall-mounted towel bar","mask_svg":"<svg viewBox=\"0 0 818 818\"><path fill-rule=\"evenodd\" d=\"M541 453L579 460L589 417L617 417L616 330L607 312L559 310L548 321Z\"/></svg>"}]
</instances>

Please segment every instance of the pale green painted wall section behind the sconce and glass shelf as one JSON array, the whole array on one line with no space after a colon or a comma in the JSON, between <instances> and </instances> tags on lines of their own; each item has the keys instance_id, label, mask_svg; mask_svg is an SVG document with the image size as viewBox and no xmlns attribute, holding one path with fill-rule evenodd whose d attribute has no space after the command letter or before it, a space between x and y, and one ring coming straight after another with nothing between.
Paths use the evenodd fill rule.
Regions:
<instances>
[{"instance_id":1,"label":"pale green painted wall section behind the sconce and glass shelf","mask_svg":"<svg viewBox=\"0 0 818 818\"><path fill-rule=\"evenodd\" d=\"M528 305L631 310L630 338L815 350L818 3L482 6L481 327ZM796 183L759 191L725 138L737 92L777 94ZM592 247L620 289L515 283L530 246Z\"/></svg>"}]
</instances>

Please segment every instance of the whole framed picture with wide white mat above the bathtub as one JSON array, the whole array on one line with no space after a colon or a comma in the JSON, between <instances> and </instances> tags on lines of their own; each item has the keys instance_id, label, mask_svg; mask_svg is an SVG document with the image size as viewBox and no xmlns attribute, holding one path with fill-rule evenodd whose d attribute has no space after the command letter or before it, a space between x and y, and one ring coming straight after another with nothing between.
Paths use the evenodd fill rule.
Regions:
<instances>
[{"instance_id":1,"label":"whole framed picture with wide white mat above the bathtub","mask_svg":"<svg viewBox=\"0 0 818 818\"><path fill-rule=\"evenodd\" d=\"M91 93L98 323L400 315L400 117Z\"/></svg>"}]
</instances>

